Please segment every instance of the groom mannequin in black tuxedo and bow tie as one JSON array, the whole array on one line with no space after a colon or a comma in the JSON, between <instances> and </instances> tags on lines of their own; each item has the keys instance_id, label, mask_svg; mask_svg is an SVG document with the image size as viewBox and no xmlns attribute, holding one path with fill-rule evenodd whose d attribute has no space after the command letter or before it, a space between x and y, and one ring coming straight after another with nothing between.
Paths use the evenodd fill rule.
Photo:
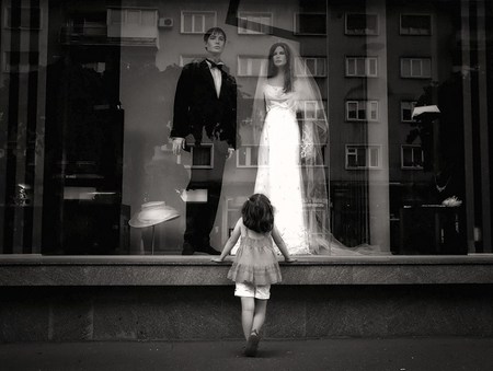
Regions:
<instances>
[{"instance_id":1,"label":"groom mannequin in black tuxedo and bow tie","mask_svg":"<svg viewBox=\"0 0 493 371\"><path fill-rule=\"evenodd\" d=\"M183 255L219 254L210 246L209 235L219 205L225 163L237 146L237 84L220 60L226 33L219 27L210 28L204 35L204 44L207 58L186 65L177 81L170 132L176 155L182 150L208 149L204 142L213 144L211 169L192 166L186 189L206 190L207 200L186 204ZM187 136L194 141L185 141Z\"/></svg>"}]
</instances>

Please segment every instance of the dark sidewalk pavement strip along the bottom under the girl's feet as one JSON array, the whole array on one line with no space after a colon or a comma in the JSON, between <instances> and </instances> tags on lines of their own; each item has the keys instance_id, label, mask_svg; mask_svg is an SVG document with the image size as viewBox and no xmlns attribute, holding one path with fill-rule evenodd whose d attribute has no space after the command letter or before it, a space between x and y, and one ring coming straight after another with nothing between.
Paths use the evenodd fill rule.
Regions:
<instances>
[{"instance_id":1,"label":"dark sidewalk pavement strip along the bottom under the girl's feet","mask_svg":"<svg viewBox=\"0 0 493 371\"><path fill-rule=\"evenodd\" d=\"M261 341L83 341L0 345L0 370L493 370L493 338L337 338Z\"/></svg>"}]
</instances>

